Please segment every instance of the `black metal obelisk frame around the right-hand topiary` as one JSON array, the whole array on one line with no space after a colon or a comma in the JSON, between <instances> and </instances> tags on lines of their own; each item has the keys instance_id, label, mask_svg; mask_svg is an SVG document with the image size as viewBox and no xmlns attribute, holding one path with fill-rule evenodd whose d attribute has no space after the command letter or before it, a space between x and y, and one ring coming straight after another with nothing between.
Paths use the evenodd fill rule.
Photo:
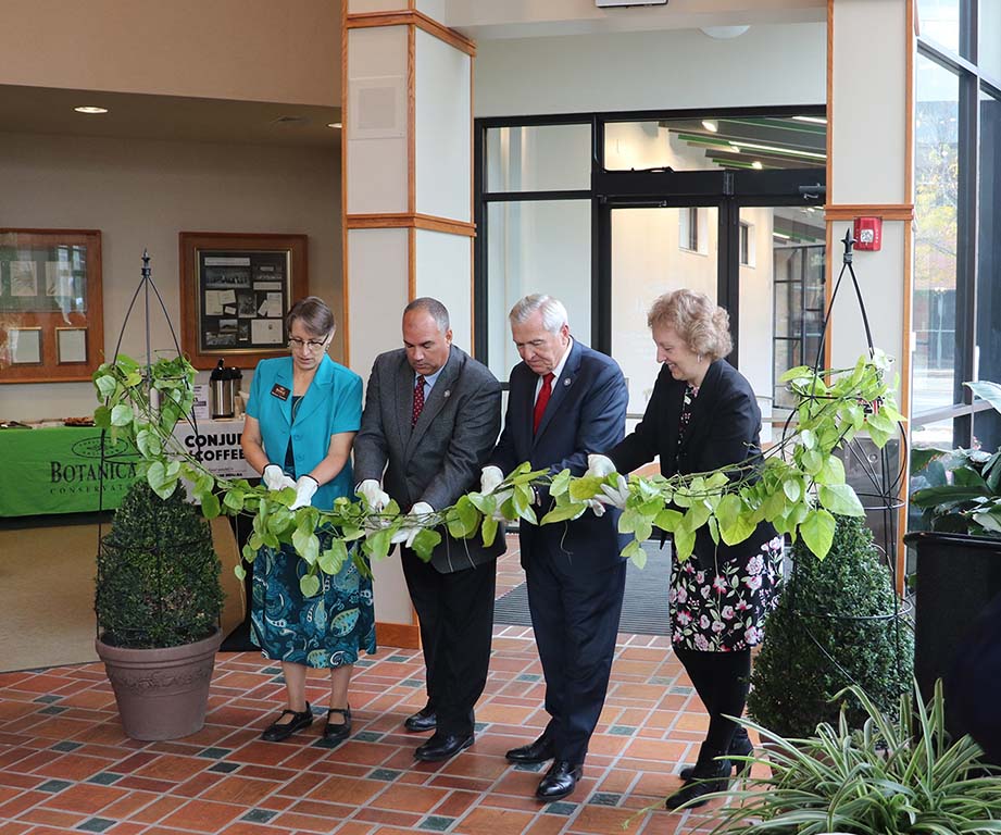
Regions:
<instances>
[{"instance_id":1,"label":"black metal obelisk frame around the right-hand topiary","mask_svg":"<svg viewBox=\"0 0 1001 835\"><path fill-rule=\"evenodd\" d=\"M817 356L813 363L813 371L815 374L818 374L824 369L823 358L824 358L824 345L825 337L827 336L827 329L830 326L831 312L834 311L835 300L838 297L838 291L841 288L841 284L844 279L846 273L851 278L852 287L855 291L855 299L859 303L859 313L862 316L862 324L865 328L865 339L868 347L869 358L874 358L876 353L876 348L873 342L873 333L869 327L868 313L865 308L865 300L862 298L862 290L859 286L859 279L855 276L855 270L852 264L852 248L855 245L855 239L852 237L851 227L844 233L844 237L841 239L841 244L844 247L844 251L841 257L841 271L838 274L838 279L835 283L834 290L830 294L830 301L828 302L827 310L824 314L824 324L821 328L819 340L817 345ZM810 401L816 401L822 398L811 395L809 398ZM863 403L863 408L866 410L866 413L871 413L873 410L878 410L880 403ZM783 439L787 437L790 425L792 422L792 415L790 414L789 419L786 421L785 426L783 427ZM848 444L843 445L844 458L853 460L859 464L864 478L865 478L865 489L856 489L855 493L859 496L859 500L862 502L862 507L866 512L866 520L872 527L872 523L868 521L871 514L875 514L877 519L881 521L881 543L878 540L875 541L875 547L880 551L884 561L886 562L887 569L889 570L889 576L892 584L893 591L893 611L887 614L874 614L874 615L841 615L833 614L828 612L821 611L800 611L796 607L796 600L790 601L791 614L801 623L801 628L794 631L796 634L802 634L809 638L814 646L821 651L821 653L827 658L834 668L840 672L846 680L846 686L848 684L854 684L864 689L864 687L854 678L851 674L840 664L837 659L835 659L827 648L817 640L813 631L810 628L810 622L812 620L841 620L846 622L892 622L894 631L894 644L896 644L896 660L898 672L901 671L904 659L902 658L902 646L901 646L901 622L902 620L910 614L913 609L913 606L910 601L905 605L901 605L900 595L897 593L898 588L898 576L897 576L897 553L898 553L898 512L903 507L903 501L900 498L900 489L904 481L905 475L905 461L906 461L906 451L908 451L908 440L906 440L906 431L903 425L898 423L899 432L899 443L898 443L898 462L897 468L891 465L890 453L888 451L889 443L885 444L880 450L878 450L878 456L874 456L871 452L867 452L863 444L858 437L853 437ZM875 459L875 460L874 460ZM878 468L876 463L878 462ZM846 460L848 463L848 460ZM792 571L796 571L793 564ZM792 656L794 655L794 641L789 645L789 651L786 656L787 666L791 671L792 668Z\"/></svg>"}]
</instances>

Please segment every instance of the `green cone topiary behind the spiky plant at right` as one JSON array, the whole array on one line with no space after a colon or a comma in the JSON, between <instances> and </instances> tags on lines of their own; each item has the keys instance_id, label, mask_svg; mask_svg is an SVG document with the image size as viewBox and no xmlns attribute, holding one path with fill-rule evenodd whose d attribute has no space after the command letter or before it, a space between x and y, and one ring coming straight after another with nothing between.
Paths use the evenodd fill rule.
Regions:
<instances>
[{"instance_id":1,"label":"green cone topiary behind the spiky plant at right","mask_svg":"<svg viewBox=\"0 0 1001 835\"><path fill-rule=\"evenodd\" d=\"M865 520L837 516L823 560L797 540L793 569L778 607L765 621L765 640L751 674L748 712L786 737L813 736L821 722L838 724L831 699L856 684L888 716L911 691L914 636ZM896 614L894 614L896 613ZM846 705L849 726L867 713Z\"/></svg>"}]
</instances>

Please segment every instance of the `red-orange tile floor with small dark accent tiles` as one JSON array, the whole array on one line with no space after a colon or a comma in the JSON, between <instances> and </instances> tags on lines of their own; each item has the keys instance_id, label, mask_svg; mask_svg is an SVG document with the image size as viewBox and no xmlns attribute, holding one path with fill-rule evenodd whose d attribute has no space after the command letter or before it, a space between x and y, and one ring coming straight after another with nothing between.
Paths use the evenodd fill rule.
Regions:
<instances>
[{"instance_id":1,"label":"red-orange tile floor with small dark accent tiles","mask_svg":"<svg viewBox=\"0 0 1001 835\"><path fill-rule=\"evenodd\" d=\"M522 582L503 558L498 595ZM475 745L445 763L416 763L425 735L402 730L424 703L420 652L363 657L351 685L352 737L317 740L323 716L290 740L259 740L281 699L277 665L221 653L204 728L177 741L140 743L121 731L101 664L0 674L0 835L90 832L461 835L621 833L680 835L712 828L712 808L658 805L679 781L704 731L698 698L667 638L620 635L612 684L585 778L561 802L533 798L545 767L513 767L504 751L546 724L531 631L495 628ZM311 678L323 705L325 681ZM317 713L323 711L317 708Z\"/></svg>"}]
</instances>

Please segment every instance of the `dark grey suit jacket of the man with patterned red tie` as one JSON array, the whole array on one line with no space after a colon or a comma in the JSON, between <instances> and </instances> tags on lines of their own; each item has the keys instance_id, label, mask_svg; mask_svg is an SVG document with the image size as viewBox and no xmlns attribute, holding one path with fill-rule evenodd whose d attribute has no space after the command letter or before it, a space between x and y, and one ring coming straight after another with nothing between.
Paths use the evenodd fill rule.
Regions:
<instances>
[{"instance_id":1,"label":"dark grey suit jacket of the man with patterned red tie","mask_svg":"<svg viewBox=\"0 0 1001 835\"><path fill-rule=\"evenodd\" d=\"M417 425L411 427L413 392L406 352L399 348L379 354L354 438L354 477L381 481L403 511L418 501L442 510L479 486L480 469L500 432L500 383L486 365L452 346ZM503 531L490 548L478 537L441 535L431 563L442 573L487 562L505 548Z\"/></svg>"}]
</instances>

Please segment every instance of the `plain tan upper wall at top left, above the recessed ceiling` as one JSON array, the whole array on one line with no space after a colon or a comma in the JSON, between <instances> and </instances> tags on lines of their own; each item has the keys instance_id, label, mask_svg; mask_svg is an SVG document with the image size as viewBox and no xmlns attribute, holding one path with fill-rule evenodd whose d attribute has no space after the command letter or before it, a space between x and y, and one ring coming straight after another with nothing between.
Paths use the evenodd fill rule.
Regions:
<instances>
[{"instance_id":1,"label":"plain tan upper wall at top left, above the recessed ceiling","mask_svg":"<svg viewBox=\"0 0 1001 835\"><path fill-rule=\"evenodd\" d=\"M0 84L340 105L339 0L3 0Z\"/></svg>"}]
</instances>

